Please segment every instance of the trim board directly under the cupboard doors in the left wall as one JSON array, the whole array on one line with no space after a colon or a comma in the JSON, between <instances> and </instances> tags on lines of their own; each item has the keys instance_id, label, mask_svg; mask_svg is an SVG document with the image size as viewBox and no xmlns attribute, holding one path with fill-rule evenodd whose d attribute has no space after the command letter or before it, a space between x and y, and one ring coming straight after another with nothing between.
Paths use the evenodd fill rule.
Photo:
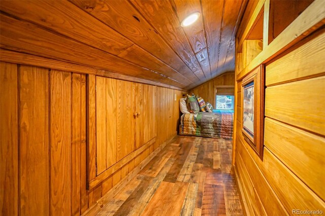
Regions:
<instances>
[{"instance_id":1,"label":"trim board directly under the cupboard doors in the left wall","mask_svg":"<svg viewBox=\"0 0 325 216\"><path fill-rule=\"evenodd\" d=\"M145 151L149 146L153 145L153 143L156 141L156 137L145 143L142 147L137 149L136 151L128 154L124 158L122 158L120 161L112 165L110 168L103 171L101 174L96 176L94 179L92 179L89 182L89 190L95 188L99 184L101 184L103 181L105 181L106 178L108 178L111 174L113 174L115 171L117 171L119 168L127 164L129 161L137 157L139 154L141 154L143 151Z\"/></svg>"}]
</instances>

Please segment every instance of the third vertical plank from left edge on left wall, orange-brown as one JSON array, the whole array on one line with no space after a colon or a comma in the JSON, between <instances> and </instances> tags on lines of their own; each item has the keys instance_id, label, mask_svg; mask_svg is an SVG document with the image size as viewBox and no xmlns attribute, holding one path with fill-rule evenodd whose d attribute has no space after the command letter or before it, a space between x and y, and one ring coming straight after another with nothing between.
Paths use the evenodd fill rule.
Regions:
<instances>
[{"instance_id":1,"label":"third vertical plank from left edge on left wall, orange-brown","mask_svg":"<svg viewBox=\"0 0 325 216\"><path fill-rule=\"evenodd\" d=\"M50 147L51 214L70 215L71 73L59 70L50 72Z\"/></svg>"}]
</instances>

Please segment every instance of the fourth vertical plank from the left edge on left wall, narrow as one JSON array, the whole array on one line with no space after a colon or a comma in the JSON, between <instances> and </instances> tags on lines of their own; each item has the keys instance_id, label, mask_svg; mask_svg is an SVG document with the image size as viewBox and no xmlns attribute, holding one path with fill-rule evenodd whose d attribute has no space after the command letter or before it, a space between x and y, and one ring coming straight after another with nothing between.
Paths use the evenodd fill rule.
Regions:
<instances>
[{"instance_id":1,"label":"fourth vertical plank from the left edge on left wall, narrow","mask_svg":"<svg viewBox=\"0 0 325 216\"><path fill-rule=\"evenodd\" d=\"M80 215L81 181L81 75L72 74L71 214Z\"/></svg>"}]
</instances>

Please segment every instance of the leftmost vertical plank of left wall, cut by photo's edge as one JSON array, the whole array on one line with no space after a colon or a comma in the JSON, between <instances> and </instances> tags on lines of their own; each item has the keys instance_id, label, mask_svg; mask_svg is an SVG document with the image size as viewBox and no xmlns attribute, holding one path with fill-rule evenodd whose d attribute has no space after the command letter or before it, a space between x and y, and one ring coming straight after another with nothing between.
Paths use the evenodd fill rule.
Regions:
<instances>
[{"instance_id":1,"label":"leftmost vertical plank of left wall, cut by photo's edge","mask_svg":"<svg viewBox=\"0 0 325 216\"><path fill-rule=\"evenodd\" d=\"M18 71L0 62L0 214L18 215Z\"/></svg>"}]
</instances>

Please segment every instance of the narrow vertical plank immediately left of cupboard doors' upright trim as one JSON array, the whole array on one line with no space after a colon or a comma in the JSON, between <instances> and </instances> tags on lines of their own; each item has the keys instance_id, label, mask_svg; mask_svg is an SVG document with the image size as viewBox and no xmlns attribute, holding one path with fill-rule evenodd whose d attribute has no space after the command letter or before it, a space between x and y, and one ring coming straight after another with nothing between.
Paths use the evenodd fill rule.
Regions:
<instances>
[{"instance_id":1,"label":"narrow vertical plank immediately left of cupboard doors' upright trim","mask_svg":"<svg viewBox=\"0 0 325 216\"><path fill-rule=\"evenodd\" d=\"M86 75L81 75L81 146L80 146L80 213L82 214L88 208L88 192L87 192L87 92L86 92Z\"/></svg>"}]
</instances>

